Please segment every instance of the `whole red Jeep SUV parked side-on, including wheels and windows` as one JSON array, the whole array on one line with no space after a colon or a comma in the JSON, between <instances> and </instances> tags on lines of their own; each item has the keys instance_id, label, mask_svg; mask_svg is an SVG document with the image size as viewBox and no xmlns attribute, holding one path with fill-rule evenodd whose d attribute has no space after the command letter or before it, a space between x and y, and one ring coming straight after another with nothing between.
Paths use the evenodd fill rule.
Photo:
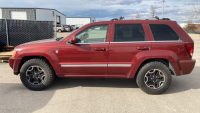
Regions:
<instances>
[{"instance_id":1,"label":"whole red Jeep SUV parked side-on, including wheels and windows","mask_svg":"<svg viewBox=\"0 0 200 113\"><path fill-rule=\"evenodd\" d=\"M43 90L54 77L134 78L148 94L190 74L194 42L175 21L116 20L85 25L65 38L17 46L10 58L24 86Z\"/></svg>"}]
</instances>

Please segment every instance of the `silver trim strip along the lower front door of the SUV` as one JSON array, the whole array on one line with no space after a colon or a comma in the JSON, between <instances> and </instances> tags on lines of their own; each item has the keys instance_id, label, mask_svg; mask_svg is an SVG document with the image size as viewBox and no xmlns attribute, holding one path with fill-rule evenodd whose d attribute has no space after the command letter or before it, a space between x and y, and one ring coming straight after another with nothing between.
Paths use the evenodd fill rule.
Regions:
<instances>
[{"instance_id":1,"label":"silver trim strip along the lower front door of the SUV","mask_svg":"<svg viewBox=\"0 0 200 113\"><path fill-rule=\"evenodd\" d=\"M69 65L61 65L61 67L107 67L107 64L69 64Z\"/></svg>"}]
</instances>

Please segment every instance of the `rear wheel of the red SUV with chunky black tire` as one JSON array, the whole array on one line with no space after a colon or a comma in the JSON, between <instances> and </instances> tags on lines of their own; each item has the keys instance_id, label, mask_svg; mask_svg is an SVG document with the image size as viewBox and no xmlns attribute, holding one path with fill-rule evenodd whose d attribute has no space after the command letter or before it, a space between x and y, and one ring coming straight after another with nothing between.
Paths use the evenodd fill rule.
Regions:
<instances>
[{"instance_id":1,"label":"rear wheel of the red SUV with chunky black tire","mask_svg":"<svg viewBox=\"0 0 200 113\"><path fill-rule=\"evenodd\" d=\"M169 68L157 61L145 64L139 70L136 78L138 86L144 92L154 95L165 92L169 88L171 80L172 77Z\"/></svg>"}]
</instances>

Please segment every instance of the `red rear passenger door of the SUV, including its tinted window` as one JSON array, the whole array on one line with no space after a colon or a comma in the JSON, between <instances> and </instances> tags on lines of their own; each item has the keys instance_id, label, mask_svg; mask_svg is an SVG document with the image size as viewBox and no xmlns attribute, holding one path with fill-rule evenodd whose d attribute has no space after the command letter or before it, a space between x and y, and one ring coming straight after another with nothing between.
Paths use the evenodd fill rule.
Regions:
<instances>
[{"instance_id":1,"label":"red rear passenger door of the SUV, including its tinted window","mask_svg":"<svg viewBox=\"0 0 200 113\"><path fill-rule=\"evenodd\" d=\"M108 74L124 77L134 66L134 57L140 52L149 51L151 42L148 41L143 21L114 21L112 29L114 31L109 45Z\"/></svg>"}]
</instances>

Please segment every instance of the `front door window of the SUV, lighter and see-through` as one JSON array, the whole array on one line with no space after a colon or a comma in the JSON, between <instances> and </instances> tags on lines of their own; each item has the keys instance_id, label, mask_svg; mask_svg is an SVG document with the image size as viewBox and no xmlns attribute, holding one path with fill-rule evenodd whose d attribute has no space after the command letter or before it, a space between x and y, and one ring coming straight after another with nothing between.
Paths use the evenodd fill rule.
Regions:
<instances>
[{"instance_id":1,"label":"front door window of the SUV, lighter and see-through","mask_svg":"<svg viewBox=\"0 0 200 113\"><path fill-rule=\"evenodd\" d=\"M108 25L96 25L86 28L76 35L77 43L106 42Z\"/></svg>"}]
</instances>

